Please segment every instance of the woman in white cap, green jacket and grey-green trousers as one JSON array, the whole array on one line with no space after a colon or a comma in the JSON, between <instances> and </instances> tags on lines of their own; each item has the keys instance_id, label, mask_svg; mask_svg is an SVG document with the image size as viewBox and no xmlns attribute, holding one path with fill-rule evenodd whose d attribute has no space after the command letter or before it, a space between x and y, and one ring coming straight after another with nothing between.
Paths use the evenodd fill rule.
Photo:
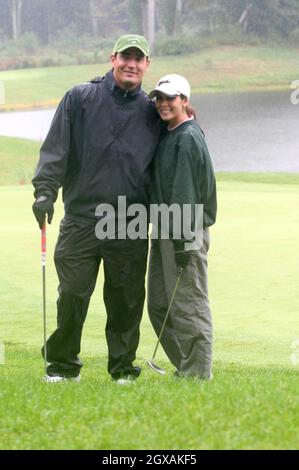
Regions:
<instances>
[{"instance_id":1,"label":"woman in white cap, green jacket and grey-green trousers","mask_svg":"<svg viewBox=\"0 0 299 470\"><path fill-rule=\"evenodd\" d=\"M216 219L216 182L203 132L189 105L190 85L176 74L161 78L150 93L160 117L167 124L153 166L152 204L176 205L186 217L169 219L169 239L164 239L163 217L152 234L148 311L157 335L165 318L178 268L183 273L175 294L161 344L177 371L177 377L210 379L212 319L207 289L209 229ZM200 206L196 206L200 205ZM174 206L172 206L173 208ZM197 217L203 209L202 218ZM197 214L197 215L196 215ZM198 221L199 219L199 221ZM154 223L154 222L153 222ZM165 230L164 230L165 231ZM192 238L193 232L193 238ZM191 234L191 235L190 235Z\"/></svg>"}]
</instances>

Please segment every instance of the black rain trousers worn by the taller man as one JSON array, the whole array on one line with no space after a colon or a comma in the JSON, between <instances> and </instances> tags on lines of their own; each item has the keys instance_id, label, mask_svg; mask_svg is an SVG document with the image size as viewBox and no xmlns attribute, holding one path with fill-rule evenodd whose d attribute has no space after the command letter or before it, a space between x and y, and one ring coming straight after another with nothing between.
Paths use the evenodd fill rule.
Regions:
<instances>
[{"instance_id":1,"label":"black rain trousers worn by the taller man","mask_svg":"<svg viewBox=\"0 0 299 470\"><path fill-rule=\"evenodd\" d=\"M57 329L47 341L49 375L75 377L90 297L101 260L107 311L108 372L113 378L139 375L132 363L139 344L145 298L147 240L99 240L95 226L64 218L55 248L59 278Z\"/></svg>"}]
</instances>

